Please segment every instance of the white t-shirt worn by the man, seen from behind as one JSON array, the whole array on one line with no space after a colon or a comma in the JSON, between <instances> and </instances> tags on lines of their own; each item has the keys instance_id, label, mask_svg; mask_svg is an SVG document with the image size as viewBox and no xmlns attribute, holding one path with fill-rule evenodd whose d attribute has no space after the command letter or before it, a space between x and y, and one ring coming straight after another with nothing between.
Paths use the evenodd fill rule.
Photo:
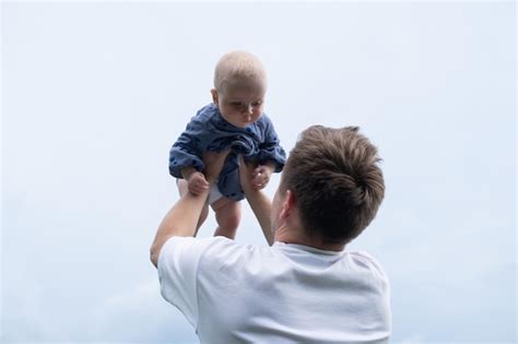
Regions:
<instances>
[{"instance_id":1,"label":"white t-shirt worn by the man, seen from behind","mask_svg":"<svg viewBox=\"0 0 518 344\"><path fill-rule=\"evenodd\" d=\"M388 278L363 251L173 237L158 277L201 343L387 343L390 334Z\"/></svg>"}]
</instances>

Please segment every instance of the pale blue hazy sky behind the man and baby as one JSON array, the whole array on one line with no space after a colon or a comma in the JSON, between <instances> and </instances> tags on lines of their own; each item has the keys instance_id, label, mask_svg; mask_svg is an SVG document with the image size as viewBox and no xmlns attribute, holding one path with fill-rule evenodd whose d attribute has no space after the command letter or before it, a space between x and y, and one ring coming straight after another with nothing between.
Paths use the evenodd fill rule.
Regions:
<instances>
[{"instance_id":1,"label":"pale blue hazy sky behind the man and baby","mask_svg":"<svg viewBox=\"0 0 518 344\"><path fill-rule=\"evenodd\" d=\"M516 341L514 2L3 2L1 22L2 343L197 341L149 246L169 146L232 49L264 62L286 151L315 123L378 145L386 199L349 249L389 274L392 342ZM244 216L237 240L266 245Z\"/></svg>"}]
</instances>

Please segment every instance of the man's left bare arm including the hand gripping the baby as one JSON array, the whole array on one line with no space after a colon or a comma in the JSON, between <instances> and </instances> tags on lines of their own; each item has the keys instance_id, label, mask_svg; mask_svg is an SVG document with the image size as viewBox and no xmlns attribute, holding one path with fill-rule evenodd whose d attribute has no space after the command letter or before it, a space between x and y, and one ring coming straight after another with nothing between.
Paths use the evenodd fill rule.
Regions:
<instances>
[{"instance_id":1,"label":"man's left bare arm including the hand gripping the baby","mask_svg":"<svg viewBox=\"0 0 518 344\"><path fill-rule=\"evenodd\" d=\"M221 153L210 152L203 155L205 176L210 183L213 183L217 178L228 152L228 150ZM173 209L167 212L156 230L155 239L150 249L151 262L153 265L157 266L160 251L167 239L176 236L195 236L196 226L209 195L209 189L204 190L199 195L193 195L191 192L187 192L178 202L176 202Z\"/></svg>"}]
</instances>

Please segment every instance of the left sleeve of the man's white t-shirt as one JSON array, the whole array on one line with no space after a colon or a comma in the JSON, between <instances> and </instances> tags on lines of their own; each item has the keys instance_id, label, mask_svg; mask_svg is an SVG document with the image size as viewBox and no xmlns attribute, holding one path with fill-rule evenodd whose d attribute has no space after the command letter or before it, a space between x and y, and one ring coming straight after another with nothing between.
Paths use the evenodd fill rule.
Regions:
<instances>
[{"instance_id":1,"label":"left sleeve of the man's white t-shirt","mask_svg":"<svg viewBox=\"0 0 518 344\"><path fill-rule=\"evenodd\" d=\"M198 325L198 266L213 241L213 238L173 237L164 244L158 257L161 294L195 329Z\"/></svg>"}]
</instances>

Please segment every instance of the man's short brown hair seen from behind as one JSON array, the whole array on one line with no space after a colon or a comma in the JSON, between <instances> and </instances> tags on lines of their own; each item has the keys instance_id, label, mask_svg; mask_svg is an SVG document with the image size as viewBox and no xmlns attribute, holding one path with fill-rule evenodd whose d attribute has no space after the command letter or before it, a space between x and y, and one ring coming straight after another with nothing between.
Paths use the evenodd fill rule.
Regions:
<instances>
[{"instance_id":1,"label":"man's short brown hair seen from behind","mask_svg":"<svg viewBox=\"0 0 518 344\"><path fill-rule=\"evenodd\" d=\"M281 192L293 192L309 236L346 244L368 226L384 199L378 162L376 146L357 127L309 127L290 153Z\"/></svg>"}]
</instances>

